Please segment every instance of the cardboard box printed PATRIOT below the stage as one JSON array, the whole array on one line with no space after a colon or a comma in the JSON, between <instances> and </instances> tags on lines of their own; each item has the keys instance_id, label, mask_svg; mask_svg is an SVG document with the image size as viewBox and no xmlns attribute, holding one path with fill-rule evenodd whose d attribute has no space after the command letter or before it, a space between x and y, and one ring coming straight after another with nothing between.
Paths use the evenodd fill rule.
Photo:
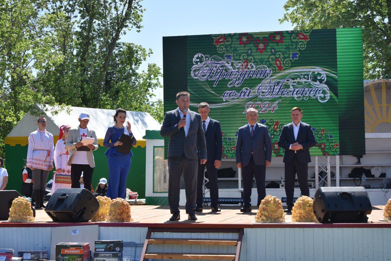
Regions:
<instances>
[{"instance_id":1,"label":"cardboard box printed PATRIOT below the stage","mask_svg":"<svg viewBox=\"0 0 391 261\"><path fill-rule=\"evenodd\" d=\"M56 261L90 261L90 243L58 243Z\"/></svg>"}]
</instances>

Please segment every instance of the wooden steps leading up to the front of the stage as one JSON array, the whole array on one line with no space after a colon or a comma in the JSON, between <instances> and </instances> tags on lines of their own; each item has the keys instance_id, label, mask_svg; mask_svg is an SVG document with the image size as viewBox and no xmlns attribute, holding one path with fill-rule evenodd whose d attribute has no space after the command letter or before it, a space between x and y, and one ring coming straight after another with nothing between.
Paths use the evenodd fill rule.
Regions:
<instances>
[{"instance_id":1,"label":"wooden steps leading up to the front of the stage","mask_svg":"<svg viewBox=\"0 0 391 261\"><path fill-rule=\"evenodd\" d=\"M151 238L153 232L170 233L238 233L238 239L197 239L197 238ZM234 260L239 261L240 247L242 245L243 229L180 229L180 228L148 228L145 237L141 261L152 259L212 259L212 260ZM214 246L236 246L236 252L232 254L223 253L153 253L149 252L148 245L214 245Z\"/></svg>"}]
</instances>

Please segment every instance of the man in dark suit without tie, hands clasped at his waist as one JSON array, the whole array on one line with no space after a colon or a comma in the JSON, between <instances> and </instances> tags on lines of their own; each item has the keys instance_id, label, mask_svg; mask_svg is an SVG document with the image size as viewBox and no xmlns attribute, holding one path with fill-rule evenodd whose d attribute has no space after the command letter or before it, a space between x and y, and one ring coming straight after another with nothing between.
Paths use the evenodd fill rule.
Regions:
<instances>
[{"instance_id":1,"label":"man in dark suit without tie, hands clasped at his waist","mask_svg":"<svg viewBox=\"0 0 391 261\"><path fill-rule=\"evenodd\" d=\"M292 211L296 174L301 195L310 196L308 162L311 162L310 148L316 145L316 140L311 125L301 122L302 117L303 112L299 107L292 108L292 122L283 127L278 140L278 146L285 149L283 162L285 163L287 209L284 212Z\"/></svg>"}]
</instances>

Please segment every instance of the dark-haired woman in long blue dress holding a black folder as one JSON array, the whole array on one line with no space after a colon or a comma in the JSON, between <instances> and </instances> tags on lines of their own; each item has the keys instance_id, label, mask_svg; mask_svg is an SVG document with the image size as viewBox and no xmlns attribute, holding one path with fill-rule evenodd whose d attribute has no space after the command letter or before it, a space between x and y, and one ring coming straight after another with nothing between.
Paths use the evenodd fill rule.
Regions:
<instances>
[{"instance_id":1,"label":"dark-haired woman in long blue dress holding a black folder","mask_svg":"<svg viewBox=\"0 0 391 261\"><path fill-rule=\"evenodd\" d=\"M126 179L133 155L132 151L127 155L117 152L117 147L122 146L122 142L119 141L122 133L133 136L129 121L126 128L124 127L126 111L119 108L113 117L115 124L107 129L103 141L103 146L109 148L104 154L109 165L109 187L106 196L111 199L126 197ZM136 145L136 139L133 140L133 145Z\"/></svg>"}]
</instances>

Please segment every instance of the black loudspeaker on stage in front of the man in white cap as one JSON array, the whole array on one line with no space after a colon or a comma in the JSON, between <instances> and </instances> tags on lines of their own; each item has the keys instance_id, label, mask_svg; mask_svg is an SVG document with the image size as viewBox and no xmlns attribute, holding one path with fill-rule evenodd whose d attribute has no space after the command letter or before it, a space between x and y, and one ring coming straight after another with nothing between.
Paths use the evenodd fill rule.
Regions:
<instances>
[{"instance_id":1,"label":"black loudspeaker on stage in front of the man in white cap","mask_svg":"<svg viewBox=\"0 0 391 261\"><path fill-rule=\"evenodd\" d=\"M87 222L98 209L98 200L87 189L57 189L45 211L55 222Z\"/></svg>"}]
</instances>

